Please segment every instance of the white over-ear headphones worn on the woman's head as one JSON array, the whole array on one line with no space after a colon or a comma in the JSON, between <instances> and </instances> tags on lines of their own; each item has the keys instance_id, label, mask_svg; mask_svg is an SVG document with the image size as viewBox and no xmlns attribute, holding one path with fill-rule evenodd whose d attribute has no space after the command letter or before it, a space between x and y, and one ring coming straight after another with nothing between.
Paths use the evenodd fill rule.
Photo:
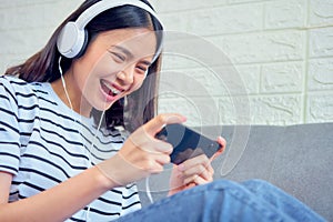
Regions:
<instances>
[{"instance_id":1,"label":"white over-ear headphones worn on the woman's head","mask_svg":"<svg viewBox=\"0 0 333 222\"><path fill-rule=\"evenodd\" d=\"M83 11L77 21L70 21L62 28L57 40L59 52L69 59L80 54L88 41L87 30L84 29L85 26L101 12L125 4L134 6L145 10L162 26L158 14L148 4L140 0L101 0Z\"/></svg>"}]
</instances>

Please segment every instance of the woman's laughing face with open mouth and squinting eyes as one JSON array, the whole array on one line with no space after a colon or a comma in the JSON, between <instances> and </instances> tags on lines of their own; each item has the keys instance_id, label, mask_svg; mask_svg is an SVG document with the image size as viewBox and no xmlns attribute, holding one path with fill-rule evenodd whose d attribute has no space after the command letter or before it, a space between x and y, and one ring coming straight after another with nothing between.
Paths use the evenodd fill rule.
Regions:
<instances>
[{"instance_id":1,"label":"woman's laughing face with open mouth and squinting eyes","mask_svg":"<svg viewBox=\"0 0 333 222\"><path fill-rule=\"evenodd\" d=\"M74 98L81 100L79 112L88 117L91 108L107 110L114 101L139 89L155 49L155 34L145 28L98 34L69 70Z\"/></svg>"}]
</instances>

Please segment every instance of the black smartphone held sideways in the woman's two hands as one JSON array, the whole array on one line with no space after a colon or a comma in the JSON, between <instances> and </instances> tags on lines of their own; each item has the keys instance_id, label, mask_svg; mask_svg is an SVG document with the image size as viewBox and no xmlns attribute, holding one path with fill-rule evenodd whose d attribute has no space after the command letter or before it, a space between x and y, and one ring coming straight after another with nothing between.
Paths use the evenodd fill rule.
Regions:
<instances>
[{"instance_id":1,"label":"black smartphone held sideways in the woman's two hands","mask_svg":"<svg viewBox=\"0 0 333 222\"><path fill-rule=\"evenodd\" d=\"M172 144L173 151L170 157L174 164L180 164L203 153L211 158L221 149L216 141L179 123L165 125L157 133L157 138Z\"/></svg>"}]
</instances>

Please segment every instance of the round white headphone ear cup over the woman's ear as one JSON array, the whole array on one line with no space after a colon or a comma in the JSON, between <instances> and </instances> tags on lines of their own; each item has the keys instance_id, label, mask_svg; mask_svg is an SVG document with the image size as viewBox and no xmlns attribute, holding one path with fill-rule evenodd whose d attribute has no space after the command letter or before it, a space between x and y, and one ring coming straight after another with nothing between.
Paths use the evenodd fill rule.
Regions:
<instances>
[{"instance_id":1,"label":"round white headphone ear cup over the woman's ear","mask_svg":"<svg viewBox=\"0 0 333 222\"><path fill-rule=\"evenodd\" d=\"M84 47L85 36L84 29L78 29L77 23L73 21L68 22L57 39L59 52L69 59L77 57Z\"/></svg>"}]
</instances>

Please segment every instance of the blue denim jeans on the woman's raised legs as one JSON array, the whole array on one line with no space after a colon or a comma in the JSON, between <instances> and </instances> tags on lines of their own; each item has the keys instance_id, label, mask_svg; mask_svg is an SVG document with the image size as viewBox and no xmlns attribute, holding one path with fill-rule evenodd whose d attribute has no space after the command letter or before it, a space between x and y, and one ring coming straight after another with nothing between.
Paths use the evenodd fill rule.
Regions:
<instances>
[{"instance_id":1,"label":"blue denim jeans on the woman's raised legs","mask_svg":"<svg viewBox=\"0 0 333 222\"><path fill-rule=\"evenodd\" d=\"M117 221L324 221L299 200L262 180L218 180L199 185Z\"/></svg>"}]
</instances>

